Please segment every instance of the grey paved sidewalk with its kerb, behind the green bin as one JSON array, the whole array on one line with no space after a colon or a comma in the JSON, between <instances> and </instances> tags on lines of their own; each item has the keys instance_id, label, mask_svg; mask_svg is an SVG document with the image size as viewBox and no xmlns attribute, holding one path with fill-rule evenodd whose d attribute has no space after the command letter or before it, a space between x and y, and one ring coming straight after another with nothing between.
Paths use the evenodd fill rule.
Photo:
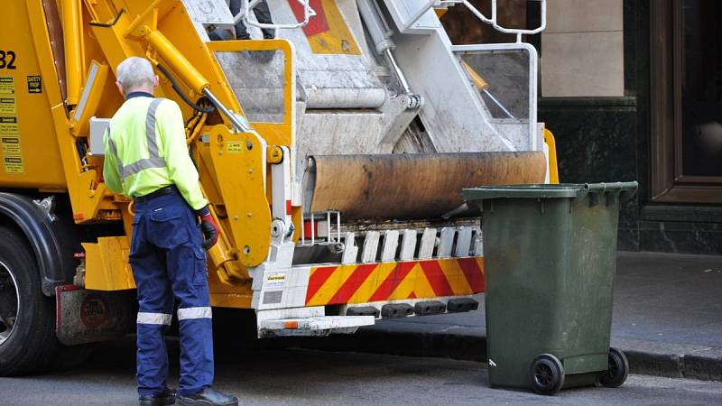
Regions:
<instances>
[{"instance_id":1,"label":"grey paved sidewalk with its kerb, behind the green bin","mask_svg":"<svg viewBox=\"0 0 722 406\"><path fill-rule=\"evenodd\" d=\"M301 346L486 361L477 311L381 320L351 337ZM722 256L620 253L612 346L634 373L722 381Z\"/></svg>"}]
</instances>

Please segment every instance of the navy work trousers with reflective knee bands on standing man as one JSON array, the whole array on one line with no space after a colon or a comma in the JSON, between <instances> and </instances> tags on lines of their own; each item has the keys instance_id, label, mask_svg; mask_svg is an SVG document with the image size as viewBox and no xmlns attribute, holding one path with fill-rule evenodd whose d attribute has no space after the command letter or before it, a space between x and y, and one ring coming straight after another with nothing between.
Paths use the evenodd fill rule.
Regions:
<instances>
[{"instance_id":1,"label":"navy work trousers with reflective knee bands on standing man","mask_svg":"<svg viewBox=\"0 0 722 406\"><path fill-rule=\"evenodd\" d=\"M213 336L198 221L175 192L136 199L133 224L130 264L138 288L138 393L156 395L166 386L163 332L171 325L174 300L180 325L178 392L200 392L213 383Z\"/></svg>"}]
</instances>

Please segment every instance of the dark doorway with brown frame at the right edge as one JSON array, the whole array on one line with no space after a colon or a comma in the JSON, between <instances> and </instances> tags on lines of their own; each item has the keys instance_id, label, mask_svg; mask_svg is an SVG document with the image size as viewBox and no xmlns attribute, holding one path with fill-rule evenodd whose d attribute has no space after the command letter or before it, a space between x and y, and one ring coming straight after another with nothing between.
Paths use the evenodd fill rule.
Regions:
<instances>
[{"instance_id":1,"label":"dark doorway with brown frame at the right edge","mask_svg":"<svg viewBox=\"0 0 722 406\"><path fill-rule=\"evenodd\" d=\"M722 203L722 2L650 2L652 198Z\"/></svg>"}]
</instances>

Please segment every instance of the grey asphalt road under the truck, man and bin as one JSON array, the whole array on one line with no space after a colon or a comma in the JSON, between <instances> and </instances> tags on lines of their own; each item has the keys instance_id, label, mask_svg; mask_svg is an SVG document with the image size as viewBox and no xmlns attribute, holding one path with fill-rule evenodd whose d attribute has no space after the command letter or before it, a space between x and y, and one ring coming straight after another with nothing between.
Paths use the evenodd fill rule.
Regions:
<instances>
[{"instance_id":1,"label":"grey asphalt road under the truck, man and bin","mask_svg":"<svg viewBox=\"0 0 722 406\"><path fill-rule=\"evenodd\" d=\"M177 356L177 343L169 346ZM630 375L617 389L573 389L546 397L490 389L486 365L469 361L238 346L217 346L216 353L216 386L248 405L722 403L719 382ZM177 376L177 363L171 370ZM99 346L87 364L71 371L0 378L0 404L137 404L132 338Z\"/></svg>"}]
</instances>

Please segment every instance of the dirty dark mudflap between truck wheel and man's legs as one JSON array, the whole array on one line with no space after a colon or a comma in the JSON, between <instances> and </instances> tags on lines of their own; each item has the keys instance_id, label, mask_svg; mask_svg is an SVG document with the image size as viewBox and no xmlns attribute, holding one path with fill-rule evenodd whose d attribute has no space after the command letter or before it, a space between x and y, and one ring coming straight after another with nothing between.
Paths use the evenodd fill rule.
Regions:
<instances>
[{"instance_id":1,"label":"dirty dark mudflap between truck wheel and man's legs","mask_svg":"<svg viewBox=\"0 0 722 406\"><path fill-rule=\"evenodd\" d=\"M122 337L133 328L132 291L88 291L74 285L55 288L55 332L66 346Z\"/></svg>"}]
</instances>

